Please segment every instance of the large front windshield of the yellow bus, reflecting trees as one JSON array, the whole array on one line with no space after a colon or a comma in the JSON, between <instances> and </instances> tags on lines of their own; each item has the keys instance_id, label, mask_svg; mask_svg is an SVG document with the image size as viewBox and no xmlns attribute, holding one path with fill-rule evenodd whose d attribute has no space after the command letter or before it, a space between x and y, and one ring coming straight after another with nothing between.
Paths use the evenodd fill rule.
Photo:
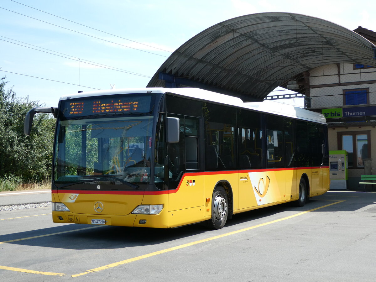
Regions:
<instances>
[{"instance_id":1,"label":"large front windshield of the yellow bus, reflecting trees","mask_svg":"<svg viewBox=\"0 0 376 282\"><path fill-rule=\"evenodd\" d=\"M98 116L58 121L56 186L100 189L105 185L113 190L149 183L153 117Z\"/></svg>"}]
</instances>

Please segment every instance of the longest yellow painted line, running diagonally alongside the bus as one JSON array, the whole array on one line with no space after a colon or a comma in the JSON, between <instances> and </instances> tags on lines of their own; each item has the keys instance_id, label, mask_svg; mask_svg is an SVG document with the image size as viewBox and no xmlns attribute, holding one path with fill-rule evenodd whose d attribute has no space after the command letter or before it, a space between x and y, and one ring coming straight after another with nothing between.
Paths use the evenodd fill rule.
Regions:
<instances>
[{"instance_id":1,"label":"longest yellow painted line, running diagonally alongside the bus","mask_svg":"<svg viewBox=\"0 0 376 282\"><path fill-rule=\"evenodd\" d=\"M129 262L138 261L140 259L150 258L151 256L160 255L162 253L167 253L167 252L171 252L171 251L174 251L174 250L183 249L185 247L189 247L189 246L193 246L193 245L196 245L196 244L200 244L200 243L208 242L208 241L211 241L211 240L215 240L215 239L218 239L218 238L226 237L226 236L229 236L229 235L241 233L241 232L244 232L244 231L248 231L248 230L251 230L251 229L255 229L255 228L262 227L262 226L265 226L265 225L269 225L269 224L272 224L272 223L276 223L276 222L279 222L279 221L282 221L282 220L287 220L287 219L290 219L290 218L293 218L293 217L297 217L299 215L306 214L307 212L316 211L318 209L326 208L328 206L335 205L335 204L342 203L342 202L345 202L345 201L344 200L338 201L338 202L331 203L331 204L328 204L328 205L320 206L318 208L310 209L308 211L299 212L297 214L290 215L288 217L283 217L283 218L280 218L280 219L276 219L276 220L272 220L272 221L269 221L269 222L257 224L257 225L254 225L254 226L250 226L250 227L246 227L246 228L243 228L243 229L235 230L235 231L232 231L232 232L224 233L224 234L217 235L217 236L214 236L214 237L209 237L209 238L206 238L206 239L203 239L203 240L194 241L194 242L183 244L183 245L179 245L179 246L176 246L176 247L172 247L172 248L168 248L168 249L156 251L156 252L153 252L153 253L148 253L146 255L136 256L135 258L126 259L124 261L118 261L118 262L115 262L115 263L112 263L112 264L108 264L108 265L105 265L105 266L101 266L101 267L89 269L89 270L86 270L83 273L73 274L72 277L78 277L78 276L89 274L89 273L92 273L92 272L105 270L105 269L108 269L108 268L111 268L111 267L116 267L116 266L119 266L119 265L122 265L122 264L127 264Z\"/></svg>"}]
</instances>

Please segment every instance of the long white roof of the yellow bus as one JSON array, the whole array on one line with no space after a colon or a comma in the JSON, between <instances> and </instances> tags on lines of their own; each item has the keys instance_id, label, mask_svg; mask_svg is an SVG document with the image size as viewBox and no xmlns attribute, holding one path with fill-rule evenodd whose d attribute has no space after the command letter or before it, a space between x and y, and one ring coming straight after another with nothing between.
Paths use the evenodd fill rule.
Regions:
<instances>
[{"instance_id":1,"label":"long white roof of the yellow bus","mask_svg":"<svg viewBox=\"0 0 376 282\"><path fill-rule=\"evenodd\" d=\"M149 92L150 91L150 92ZM198 100L206 100L224 105L232 105L236 107L251 109L258 112L266 112L269 114L283 115L285 117L299 118L302 120L313 121L316 123L326 124L324 115L308 111L299 107L282 104L275 101L264 100L262 102L247 102L244 103L240 98L220 94L200 88L125 88L125 89L111 89L76 93L73 95L62 96L60 100L101 96L101 95L114 95L114 94L141 94L141 93L171 93L178 96L191 97Z\"/></svg>"}]
</instances>

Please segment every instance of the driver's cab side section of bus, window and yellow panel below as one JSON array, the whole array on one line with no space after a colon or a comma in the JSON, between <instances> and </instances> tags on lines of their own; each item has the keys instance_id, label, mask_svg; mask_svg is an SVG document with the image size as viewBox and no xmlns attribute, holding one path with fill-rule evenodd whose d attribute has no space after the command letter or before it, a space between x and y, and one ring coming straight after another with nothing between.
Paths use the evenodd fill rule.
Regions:
<instances>
[{"instance_id":1,"label":"driver's cab side section of bus, window and yellow panel below","mask_svg":"<svg viewBox=\"0 0 376 282\"><path fill-rule=\"evenodd\" d=\"M180 120L179 143L167 144L168 210L176 211L204 205L203 118L169 115ZM201 134L200 134L201 133ZM195 217L195 212L192 216ZM196 214L196 216L199 216ZM202 214L203 217L203 208Z\"/></svg>"}]
</instances>

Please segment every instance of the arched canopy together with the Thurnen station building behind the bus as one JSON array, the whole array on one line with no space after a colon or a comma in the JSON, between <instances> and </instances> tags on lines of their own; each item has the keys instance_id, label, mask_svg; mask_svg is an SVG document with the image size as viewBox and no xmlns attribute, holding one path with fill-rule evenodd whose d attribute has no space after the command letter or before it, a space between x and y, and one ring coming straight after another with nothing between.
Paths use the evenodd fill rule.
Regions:
<instances>
[{"instance_id":1,"label":"arched canopy together with the Thurnen station building behind the bus","mask_svg":"<svg viewBox=\"0 0 376 282\"><path fill-rule=\"evenodd\" d=\"M325 115L329 150L347 150L348 187L361 190L360 176L376 174L364 169L365 159L376 168L374 66L372 30L352 31L307 15L259 13L200 32L161 65L147 87L197 87L244 102L261 101L277 86L293 89L305 97L305 108Z\"/></svg>"}]
</instances>

